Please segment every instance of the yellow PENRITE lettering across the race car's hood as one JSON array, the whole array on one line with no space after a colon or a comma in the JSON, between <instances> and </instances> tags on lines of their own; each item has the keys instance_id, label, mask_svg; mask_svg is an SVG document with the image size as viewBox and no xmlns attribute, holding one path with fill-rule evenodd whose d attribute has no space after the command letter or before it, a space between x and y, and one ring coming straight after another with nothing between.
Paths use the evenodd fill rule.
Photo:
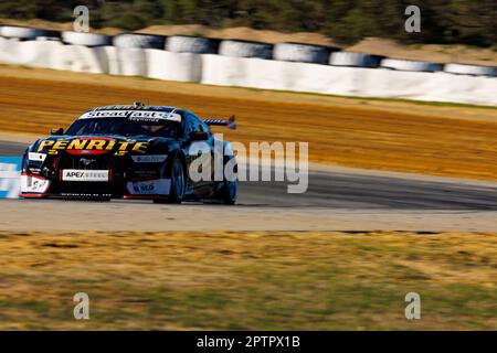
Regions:
<instances>
[{"instance_id":1,"label":"yellow PENRITE lettering across the race car's hood","mask_svg":"<svg viewBox=\"0 0 497 353\"><path fill-rule=\"evenodd\" d=\"M115 150L116 152L114 154L124 156L131 151L145 153L148 145L148 142L139 142L136 140L116 141L106 138L43 140L38 147L38 152L49 149L49 154L59 154L59 151L61 150L65 150L71 154L102 154Z\"/></svg>"}]
</instances>

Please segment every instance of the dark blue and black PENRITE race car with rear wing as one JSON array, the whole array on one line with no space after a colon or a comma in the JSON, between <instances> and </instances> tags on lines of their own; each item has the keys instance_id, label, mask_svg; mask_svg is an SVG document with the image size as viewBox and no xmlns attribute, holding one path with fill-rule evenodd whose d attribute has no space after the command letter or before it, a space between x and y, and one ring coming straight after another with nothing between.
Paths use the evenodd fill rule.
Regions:
<instances>
[{"instance_id":1,"label":"dark blue and black PENRITE race car with rear wing","mask_svg":"<svg viewBox=\"0 0 497 353\"><path fill-rule=\"evenodd\" d=\"M234 204L237 178L220 176L214 164L236 173L236 160L211 125L235 128L234 117L202 120L141 103L89 109L65 132L54 129L25 150L20 196Z\"/></svg>"}]
</instances>

